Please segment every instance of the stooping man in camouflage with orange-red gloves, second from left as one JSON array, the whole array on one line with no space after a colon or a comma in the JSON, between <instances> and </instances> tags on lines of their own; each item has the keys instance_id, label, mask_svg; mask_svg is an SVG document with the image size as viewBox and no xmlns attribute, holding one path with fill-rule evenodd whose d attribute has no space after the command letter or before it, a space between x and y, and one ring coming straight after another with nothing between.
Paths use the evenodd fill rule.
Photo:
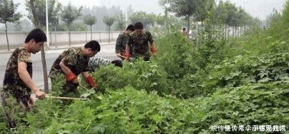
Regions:
<instances>
[{"instance_id":1,"label":"stooping man in camouflage with orange-red gloves, second from left","mask_svg":"<svg viewBox=\"0 0 289 134\"><path fill-rule=\"evenodd\" d=\"M84 47L70 48L62 52L53 63L49 72L48 77L51 79L52 91L60 91L60 95L63 97L80 97L76 89L79 85L77 77L81 73L87 83L95 88L96 83L88 73L88 61L89 57L93 57L99 51L99 43L92 40L85 44ZM65 78L66 82L59 90L54 85L58 82L58 77L61 77L61 75Z\"/></svg>"}]
</instances>

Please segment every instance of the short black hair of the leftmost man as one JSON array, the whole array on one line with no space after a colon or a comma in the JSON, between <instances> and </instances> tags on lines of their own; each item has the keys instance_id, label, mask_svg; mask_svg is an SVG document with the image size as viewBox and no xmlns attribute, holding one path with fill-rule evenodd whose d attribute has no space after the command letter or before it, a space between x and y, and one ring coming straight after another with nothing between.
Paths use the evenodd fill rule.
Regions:
<instances>
[{"instance_id":1,"label":"short black hair of the leftmost man","mask_svg":"<svg viewBox=\"0 0 289 134\"><path fill-rule=\"evenodd\" d=\"M30 31L25 39L25 43L28 43L32 39L34 39L36 43L47 42L46 34L40 28L35 28L32 31Z\"/></svg>"}]
</instances>

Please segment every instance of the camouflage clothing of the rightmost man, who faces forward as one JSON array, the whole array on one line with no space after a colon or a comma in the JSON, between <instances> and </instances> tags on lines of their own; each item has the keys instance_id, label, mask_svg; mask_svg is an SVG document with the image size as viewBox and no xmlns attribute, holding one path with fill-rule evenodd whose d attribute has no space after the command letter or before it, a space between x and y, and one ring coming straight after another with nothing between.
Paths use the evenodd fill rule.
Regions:
<instances>
[{"instance_id":1,"label":"camouflage clothing of the rightmost man, who faces forward","mask_svg":"<svg viewBox=\"0 0 289 134\"><path fill-rule=\"evenodd\" d=\"M135 31L129 34L127 44L132 46L131 57L138 58L143 56L145 61L149 60L150 54L148 42L153 42L152 35L148 30L144 29L144 33L141 36L137 36Z\"/></svg>"}]
</instances>

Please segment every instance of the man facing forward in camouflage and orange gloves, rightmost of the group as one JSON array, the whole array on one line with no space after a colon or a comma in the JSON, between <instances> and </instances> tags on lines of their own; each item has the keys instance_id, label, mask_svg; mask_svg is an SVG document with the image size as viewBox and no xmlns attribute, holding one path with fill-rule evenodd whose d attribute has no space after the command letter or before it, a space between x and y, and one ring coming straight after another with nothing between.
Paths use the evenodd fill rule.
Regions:
<instances>
[{"instance_id":1,"label":"man facing forward in camouflage and orange gloves, rightmost of the group","mask_svg":"<svg viewBox=\"0 0 289 134\"><path fill-rule=\"evenodd\" d=\"M131 57L138 58L140 56L144 57L145 61L149 60L149 46L152 54L156 54L156 46L153 42L152 35L148 30L144 29L142 23L138 22L135 24L135 31L129 34L129 39L126 44L125 57L127 59ZM132 55L129 53L132 49Z\"/></svg>"}]
</instances>

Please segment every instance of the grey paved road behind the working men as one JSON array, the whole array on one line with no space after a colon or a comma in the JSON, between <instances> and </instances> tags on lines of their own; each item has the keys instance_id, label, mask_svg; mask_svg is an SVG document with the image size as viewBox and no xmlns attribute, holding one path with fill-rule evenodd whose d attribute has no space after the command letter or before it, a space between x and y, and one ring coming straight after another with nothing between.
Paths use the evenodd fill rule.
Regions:
<instances>
[{"instance_id":1,"label":"grey paved road behind the working men","mask_svg":"<svg viewBox=\"0 0 289 134\"><path fill-rule=\"evenodd\" d=\"M77 46L77 45L75 45ZM83 46L83 45L78 45ZM56 60L58 55L66 50L67 48L58 48L57 50L46 50L45 51L45 58L46 58L46 65L47 65L47 73L49 73L53 62ZM9 54L1 54L0 53L0 87L2 86L6 64L8 61ZM115 43L110 43L110 45L101 45L100 52L95 55L96 57L103 57L107 59L120 59L115 54ZM43 79L43 68L42 68L42 60L41 60L41 53L31 54L32 58L32 67L33 67L33 74L32 80L36 83L39 88L44 88L44 79ZM49 86L50 86L50 79L48 79Z\"/></svg>"}]
</instances>

